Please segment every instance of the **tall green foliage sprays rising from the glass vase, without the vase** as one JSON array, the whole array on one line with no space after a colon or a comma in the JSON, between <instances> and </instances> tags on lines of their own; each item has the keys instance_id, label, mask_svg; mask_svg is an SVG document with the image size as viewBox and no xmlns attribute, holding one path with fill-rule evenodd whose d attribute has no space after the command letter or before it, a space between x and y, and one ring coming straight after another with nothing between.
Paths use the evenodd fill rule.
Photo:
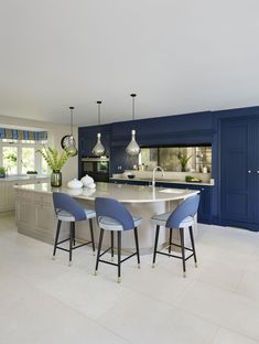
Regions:
<instances>
[{"instance_id":1,"label":"tall green foliage sprays rising from the glass vase, without the vase","mask_svg":"<svg viewBox=\"0 0 259 344\"><path fill-rule=\"evenodd\" d=\"M37 152L42 154L52 171L61 171L71 157L67 151L63 150L62 153L58 153L55 148L51 147L43 147L43 149L39 149Z\"/></svg>"}]
</instances>

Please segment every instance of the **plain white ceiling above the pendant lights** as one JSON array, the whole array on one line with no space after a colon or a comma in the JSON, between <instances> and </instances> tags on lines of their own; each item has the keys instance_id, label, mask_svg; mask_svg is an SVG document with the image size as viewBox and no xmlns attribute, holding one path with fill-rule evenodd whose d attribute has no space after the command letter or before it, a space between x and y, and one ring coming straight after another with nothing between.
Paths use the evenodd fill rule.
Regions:
<instances>
[{"instance_id":1,"label":"plain white ceiling above the pendant lights","mask_svg":"<svg viewBox=\"0 0 259 344\"><path fill-rule=\"evenodd\" d=\"M0 0L0 115L101 122L259 105L258 0Z\"/></svg>"}]
</instances>

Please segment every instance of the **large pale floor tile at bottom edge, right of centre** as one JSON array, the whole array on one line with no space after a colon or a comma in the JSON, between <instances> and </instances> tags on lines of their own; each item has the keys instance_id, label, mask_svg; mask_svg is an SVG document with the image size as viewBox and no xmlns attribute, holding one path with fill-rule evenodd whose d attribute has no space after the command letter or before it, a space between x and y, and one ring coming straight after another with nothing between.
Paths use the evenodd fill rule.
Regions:
<instances>
[{"instance_id":1,"label":"large pale floor tile at bottom edge, right of centre","mask_svg":"<svg viewBox=\"0 0 259 344\"><path fill-rule=\"evenodd\" d=\"M209 343L217 326L164 302L132 292L99 323L132 343Z\"/></svg>"}]
</instances>

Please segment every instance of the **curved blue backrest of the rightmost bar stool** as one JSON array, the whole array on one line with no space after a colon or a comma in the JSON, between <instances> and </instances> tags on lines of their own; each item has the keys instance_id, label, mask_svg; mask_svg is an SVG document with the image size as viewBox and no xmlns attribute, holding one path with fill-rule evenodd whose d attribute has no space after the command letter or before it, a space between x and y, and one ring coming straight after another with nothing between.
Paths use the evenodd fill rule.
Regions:
<instances>
[{"instance_id":1,"label":"curved blue backrest of the rightmost bar stool","mask_svg":"<svg viewBox=\"0 0 259 344\"><path fill-rule=\"evenodd\" d=\"M169 216L168 228L180 228L180 224L187 216L194 217L198 209L199 194L184 200Z\"/></svg>"}]
</instances>

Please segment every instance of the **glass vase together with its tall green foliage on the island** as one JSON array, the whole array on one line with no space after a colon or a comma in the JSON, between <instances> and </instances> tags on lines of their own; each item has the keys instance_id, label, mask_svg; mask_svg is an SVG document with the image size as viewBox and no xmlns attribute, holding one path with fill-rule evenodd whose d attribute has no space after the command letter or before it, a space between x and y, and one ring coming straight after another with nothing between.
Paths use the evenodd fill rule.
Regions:
<instances>
[{"instance_id":1,"label":"glass vase together with its tall green foliage on the island","mask_svg":"<svg viewBox=\"0 0 259 344\"><path fill-rule=\"evenodd\" d=\"M58 153L55 148L43 147L43 149L37 150L39 153L45 159L46 163L52 170L51 174L51 185L53 187L60 187L62 185L62 168L66 163L67 159L71 157L66 150Z\"/></svg>"}]
</instances>

